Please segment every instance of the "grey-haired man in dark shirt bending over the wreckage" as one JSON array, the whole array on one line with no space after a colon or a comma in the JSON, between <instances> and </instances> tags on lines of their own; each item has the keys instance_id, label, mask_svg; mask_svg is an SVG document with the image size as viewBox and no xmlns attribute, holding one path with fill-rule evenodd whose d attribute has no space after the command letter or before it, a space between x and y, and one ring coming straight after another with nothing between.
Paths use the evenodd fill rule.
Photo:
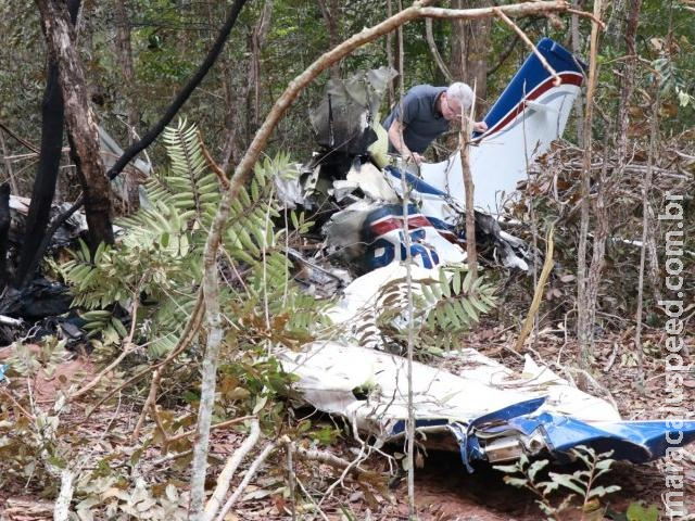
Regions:
<instances>
[{"instance_id":1,"label":"grey-haired man in dark shirt bending over the wreckage","mask_svg":"<svg viewBox=\"0 0 695 521\"><path fill-rule=\"evenodd\" d=\"M466 84L455 82L450 87L417 85L403 98L383 122L389 136L389 152L400 153L420 164L429 144L448 130L448 123L470 112L473 91ZM488 129L484 122L473 124L473 130Z\"/></svg>"}]
</instances>

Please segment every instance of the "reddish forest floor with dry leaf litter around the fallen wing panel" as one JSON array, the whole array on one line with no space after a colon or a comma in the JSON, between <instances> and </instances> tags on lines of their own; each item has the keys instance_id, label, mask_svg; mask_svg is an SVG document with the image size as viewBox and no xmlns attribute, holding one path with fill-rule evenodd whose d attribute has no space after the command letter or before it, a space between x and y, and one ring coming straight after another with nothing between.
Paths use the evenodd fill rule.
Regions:
<instances>
[{"instance_id":1,"label":"reddish forest floor with dry leaf litter around the fallen wing panel","mask_svg":"<svg viewBox=\"0 0 695 521\"><path fill-rule=\"evenodd\" d=\"M596 343L594 377L599 385L605 387L616 401L620 412L626 419L655 419L662 417L658 412L665 404L666 393L664 379L664 361L656 354L656 348L662 345L659 330L648 330L644 336L645 355L645 387L640 390L637 367L633 356L634 348L626 339L630 331L621 333L604 333ZM630 334L631 336L631 334ZM686 345L693 345L692 338L685 339ZM508 328L481 327L470 333L465 346L476 347L485 355L498 359L508 367L520 369L522 360L510 346L514 345L515 334ZM565 339L560 329L542 330L535 341L528 347L535 358L541 361L555 360L560 364L578 359L578 348L574 342ZM653 351L650 351L653 350ZM694 357L691 357L691 360ZM691 361L686 360L686 361ZM444 367L451 366L451 359L434 359L433 364ZM455 364L455 361L454 361ZM78 367L81 365L78 370ZM87 369L87 371L85 371ZM40 385L37 399L49 397L54 392L58 382L70 380L72 374L89 373L90 365L73 360L60 366L59 373L47 379ZM77 372L76 372L77 371ZM60 377L63 376L63 378ZM51 384L53 382L53 384ZM58 383L59 384L59 383ZM695 403L695 378L686 377L684 382L684 403ZM587 389L587 392L602 395L603 391ZM112 468L127 466L127 459L132 456L137 444L129 443L130 433L138 420L141 404L128 403L126 398L116 404L103 406L97 414L85 421L84 411L78 406L62 419L63 423L72 423L76 439L90 440L75 458L84 469L99 470L100 460L104 457ZM318 423L328 419L318 419ZM147 425L143 432L151 432L153 425ZM224 461L242 443L245 434L241 430L225 429L213 431L211 439L212 467L208 475L218 474ZM263 445L260 444L260 446ZM137 472L147 481L161 484L160 493L166 484L175 484L180 490L187 487L190 456L173 458L157 446L156 440L146 444L147 448L140 456ZM355 444L351 439L341 435L330 444L320 447L346 460L354 458ZM390 447L394 453L402 447ZM685 463L685 497L691 511L695 511L695 454L688 454L690 461ZM83 457L83 455L87 455ZM251 458L252 459L252 458ZM247 463L249 465L249 461ZM348 476L342 486L337 486L332 494L324 497L331 483L339 478L334 469L312 463L296 463L295 475L301 485L314 499L320 504L320 511L311 506L306 493L298 501L296 519L329 519L329 520L406 520L407 519L407 485L405 478L391 479L389 485L388 463L381 456L372 456L363 466L382 473L382 483L365 484ZM617 462L614 470L602 481L602 484L619 485L621 491L604 498L602 506L608 516L609 511L624 512L633 501L645 505L657 505L662 510L662 494L667 491L662 463L657 461L648 465L630 465ZM287 461L281 453L276 453L266 462L265 468L244 491L241 500L225 519L235 520L280 520L292 519L291 501L287 499ZM103 469L102 469L103 470ZM556 471L568 471L558 467ZM574 469L569 469L571 472ZM134 472L134 470L130 470ZM98 472L97 472L98 474ZM539 521L543 519L535 505L535 497L526 491L514 488L503 483L503 474L489 467L479 466L472 474L467 473L459 456L453 453L433 453L426 455L416 470L415 497L420 520L462 520L462 521ZM232 483L233 486L237 482ZM210 487L214 486L211 481ZM156 487L154 487L156 491ZM54 495L55 491L52 491ZM43 495L46 494L46 497ZM27 521L51 519L51 492L42 491L38 483L16 482L0 491L0 519L5 521ZM54 496L53 496L54 497ZM596 516L586 518L627 519ZM109 519L99 518L94 519ZM579 514L568 512L561 519L581 519Z\"/></svg>"}]
</instances>

